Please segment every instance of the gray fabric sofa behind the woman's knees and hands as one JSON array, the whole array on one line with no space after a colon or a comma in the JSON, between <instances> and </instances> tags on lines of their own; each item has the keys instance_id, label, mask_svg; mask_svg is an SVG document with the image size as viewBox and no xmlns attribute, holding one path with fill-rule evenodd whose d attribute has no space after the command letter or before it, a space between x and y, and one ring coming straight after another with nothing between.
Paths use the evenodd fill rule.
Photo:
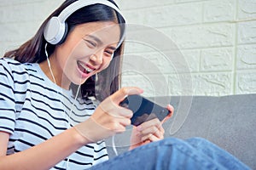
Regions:
<instances>
[{"instance_id":1,"label":"gray fabric sofa behind the woman's knees and hands","mask_svg":"<svg viewBox=\"0 0 256 170\"><path fill-rule=\"evenodd\" d=\"M165 137L188 139L202 137L256 169L256 94L223 97L176 96L154 98L158 103L168 101L175 112L165 122ZM129 148L131 127L127 132L107 139L110 157Z\"/></svg>"}]
</instances>

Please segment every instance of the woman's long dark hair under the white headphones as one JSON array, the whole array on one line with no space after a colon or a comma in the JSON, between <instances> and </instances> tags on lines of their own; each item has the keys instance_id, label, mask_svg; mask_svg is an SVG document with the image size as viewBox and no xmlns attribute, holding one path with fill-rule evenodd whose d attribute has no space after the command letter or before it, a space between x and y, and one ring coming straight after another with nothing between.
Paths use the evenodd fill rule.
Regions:
<instances>
[{"instance_id":1,"label":"woman's long dark hair under the white headphones","mask_svg":"<svg viewBox=\"0 0 256 170\"><path fill-rule=\"evenodd\" d=\"M64 3L62 3L59 8L57 8L46 20L44 20L34 37L23 43L20 48L7 52L3 57L14 58L15 60L20 61L20 63L41 63L47 59L44 53L44 46L46 43L46 40L44 39L44 27L51 17L59 15L64 8L67 8L68 5L74 3L75 1L77 0L66 0ZM117 6L113 0L108 1ZM113 8L102 4L94 4L84 8L79 8L79 10L71 14L66 20L68 29L67 32L73 30L73 27L79 24L95 21L114 21L119 23L121 24L121 35L124 34L124 26L122 24L125 24L125 20L123 17L118 12L113 10ZM52 54L54 50L55 45L48 43L48 54ZM87 98L90 96L95 96L97 99L102 100L119 89L121 80L121 56L123 54L123 50L124 43L122 43L119 48L115 50L113 60L107 69L98 73L97 77L90 77L88 80L86 80L86 82L84 82L84 84L82 84L82 97Z\"/></svg>"}]
</instances>

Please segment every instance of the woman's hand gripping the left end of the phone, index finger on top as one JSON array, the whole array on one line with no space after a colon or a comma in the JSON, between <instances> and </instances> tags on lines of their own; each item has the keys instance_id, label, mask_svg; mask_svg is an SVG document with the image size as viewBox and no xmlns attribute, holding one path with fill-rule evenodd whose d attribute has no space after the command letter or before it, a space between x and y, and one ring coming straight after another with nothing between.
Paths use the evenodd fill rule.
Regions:
<instances>
[{"instance_id":1,"label":"woman's hand gripping the left end of the phone, index finger on top","mask_svg":"<svg viewBox=\"0 0 256 170\"><path fill-rule=\"evenodd\" d=\"M90 118L75 126L84 137L84 143L96 142L125 132L125 127L131 124L132 111L119 106L127 95L142 94L141 88L121 88L97 106Z\"/></svg>"}]
</instances>

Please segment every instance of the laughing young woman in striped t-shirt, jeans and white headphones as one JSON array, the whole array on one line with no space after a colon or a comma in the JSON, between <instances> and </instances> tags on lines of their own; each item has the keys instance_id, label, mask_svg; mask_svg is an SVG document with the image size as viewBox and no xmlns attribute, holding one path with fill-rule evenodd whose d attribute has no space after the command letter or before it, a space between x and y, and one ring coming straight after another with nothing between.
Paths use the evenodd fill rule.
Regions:
<instances>
[{"instance_id":1,"label":"laughing young woman in striped t-shirt, jeans and white headphones","mask_svg":"<svg viewBox=\"0 0 256 170\"><path fill-rule=\"evenodd\" d=\"M132 112L119 103L143 93L136 87L119 88L124 36L125 19L112 0L67 0L32 39L0 59L0 169L228 164L215 155L235 160L234 168L246 168L203 139L154 142L164 135L158 119L134 127L131 151L107 161L103 139L131 124ZM102 102L95 106L92 96ZM172 106L167 109L172 116Z\"/></svg>"}]
</instances>

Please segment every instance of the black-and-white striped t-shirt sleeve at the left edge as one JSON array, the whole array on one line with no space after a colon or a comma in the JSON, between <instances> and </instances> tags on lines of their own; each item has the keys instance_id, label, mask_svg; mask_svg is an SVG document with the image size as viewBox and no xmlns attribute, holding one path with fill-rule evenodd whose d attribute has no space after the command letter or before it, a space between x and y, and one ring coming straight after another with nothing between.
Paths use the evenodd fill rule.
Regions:
<instances>
[{"instance_id":1,"label":"black-and-white striped t-shirt sleeve at the left edge","mask_svg":"<svg viewBox=\"0 0 256 170\"><path fill-rule=\"evenodd\" d=\"M7 61L0 59L0 131L14 133L14 130L14 78Z\"/></svg>"}]
</instances>

